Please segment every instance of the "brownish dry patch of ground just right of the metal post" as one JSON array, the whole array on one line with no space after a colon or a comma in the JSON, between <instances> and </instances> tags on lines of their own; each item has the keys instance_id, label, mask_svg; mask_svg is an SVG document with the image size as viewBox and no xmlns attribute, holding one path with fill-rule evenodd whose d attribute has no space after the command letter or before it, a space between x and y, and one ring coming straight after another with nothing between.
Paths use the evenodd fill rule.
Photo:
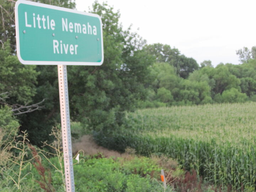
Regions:
<instances>
[{"instance_id":1,"label":"brownish dry patch of ground just right of the metal post","mask_svg":"<svg viewBox=\"0 0 256 192\"><path fill-rule=\"evenodd\" d=\"M117 151L108 150L102 146L97 145L92 139L91 135L82 136L79 141L72 144L72 151L75 155L79 150L83 150L85 155L95 155L102 153L105 157L126 157L127 153L118 153Z\"/></svg>"}]
</instances>

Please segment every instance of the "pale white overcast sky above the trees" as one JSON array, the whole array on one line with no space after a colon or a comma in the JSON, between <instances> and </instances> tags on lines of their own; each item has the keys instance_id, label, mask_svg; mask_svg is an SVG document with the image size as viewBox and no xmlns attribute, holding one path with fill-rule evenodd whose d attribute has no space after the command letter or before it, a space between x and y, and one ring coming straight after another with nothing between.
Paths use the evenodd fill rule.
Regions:
<instances>
[{"instance_id":1,"label":"pale white overcast sky above the trees","mask_svg":"<svg viewBox=\"0 0 256 192\"><path fill-rule=\"evenodd\" d=\"M76 8L88 11L93 2L76 0ZM132 31L137 31L148 44L168 44L198 64L203 60L211 60L214 66L239 64L236 50L256 46L256 0L107 2L120 11L124 28L132 24Z\"/></svg>"}]
</instances>

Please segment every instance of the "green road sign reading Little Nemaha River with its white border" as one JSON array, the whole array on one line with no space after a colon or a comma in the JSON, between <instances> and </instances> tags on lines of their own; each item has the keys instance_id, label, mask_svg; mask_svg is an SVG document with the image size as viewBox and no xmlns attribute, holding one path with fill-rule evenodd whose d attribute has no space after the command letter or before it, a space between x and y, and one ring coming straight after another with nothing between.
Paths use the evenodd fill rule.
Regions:
<instances>
[{"instance_id":1,"label":"green road sign reading Little Nemaha River with its white border","mask_svg":"<svg viewBox=\"0 0 256 192\"><path fill-rule=\"evenodd\" d=\"M15 4L17 56L31 65L101 65L100 16L18 0Z\"/></svg>"}]
</instances>

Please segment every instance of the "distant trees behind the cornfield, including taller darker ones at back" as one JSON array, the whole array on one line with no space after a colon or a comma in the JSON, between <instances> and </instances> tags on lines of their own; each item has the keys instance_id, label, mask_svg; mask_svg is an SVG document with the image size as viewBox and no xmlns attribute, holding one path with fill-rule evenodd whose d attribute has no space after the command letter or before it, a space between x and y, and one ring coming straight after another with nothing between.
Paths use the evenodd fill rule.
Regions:
<instances>
[{"instance_id":1,"label":"distant trees behind the cornfield, including taller darker ones at back","mask_svg":"<svg viewBox=\"0 0 256 192\"><path fill-rule=\"evenodd\" d=\"M237 52L244 63L220 63L214 68L209 60L199 67L194 59L177 54L168 45L146 46L157 62L149 66L148 94L145 101L138 102L139 108L256 101L254 48Z\"/></svg>"}]
</instances>

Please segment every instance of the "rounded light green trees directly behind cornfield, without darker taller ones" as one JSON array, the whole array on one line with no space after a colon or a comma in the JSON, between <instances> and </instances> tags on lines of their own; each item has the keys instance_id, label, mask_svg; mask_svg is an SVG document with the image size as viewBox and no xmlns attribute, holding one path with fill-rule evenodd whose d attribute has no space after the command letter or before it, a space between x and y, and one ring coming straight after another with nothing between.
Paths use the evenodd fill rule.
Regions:
<instances>
[{"instance_id":1,"label":"rounded light green trees directly behind cornfield, without darker taller ones","mask_svg":"<svg viewBox=\"0 0 256 192\"><path fill-rule=\"evenodd\" d=\"M255 61L251 59L241 65L219 64L216 68L210 61L204 61L201 69L190 73L187 79L179 77L176 68L168 63L154 63L150 66L148 97L140 101L137 108L254 101Z\"/></svg>"}]
</instances>

